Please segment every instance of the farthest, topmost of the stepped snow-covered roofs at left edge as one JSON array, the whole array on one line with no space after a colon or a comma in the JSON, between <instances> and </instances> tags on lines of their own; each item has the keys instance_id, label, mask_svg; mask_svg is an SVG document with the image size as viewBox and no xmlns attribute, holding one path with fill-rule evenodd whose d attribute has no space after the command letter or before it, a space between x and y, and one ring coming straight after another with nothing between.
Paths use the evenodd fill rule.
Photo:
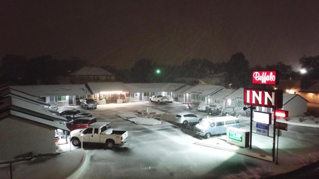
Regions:
<instances>
[{"instance_id":1,"label":"farthest, topmost of the stepped snow-covered roofs at left edge","mask_svg":"<svg viewBox=\"0 0 319 179\"><path fill-rule=\"evenodd\" d=\"M41 106L49 106L49 104L45 103L44 100L32 96L32 95L28 95L26 93L22 93L20 91L11 89L11 88L6 88L2 91L0 91L0 98L2 97L7 97L7 96L11 96L11 97L15 97L18 99L21 99L23 101L27 101L29 103L33 103L33 104L37 104L37 105L41 105Z\"/></svg>"}]
</instances>

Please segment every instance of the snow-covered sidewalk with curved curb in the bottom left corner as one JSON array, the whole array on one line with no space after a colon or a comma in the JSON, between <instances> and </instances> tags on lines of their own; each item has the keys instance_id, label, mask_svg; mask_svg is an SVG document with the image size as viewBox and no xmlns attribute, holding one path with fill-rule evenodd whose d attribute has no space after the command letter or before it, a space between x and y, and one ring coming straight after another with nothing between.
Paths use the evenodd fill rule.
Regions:
<instances>
[{"instance_id":1,"label":"snow-covered sidewalk with curved curb in the bottom left corner","mask_svg":"<svg viewBox=\"0 0 319 179\"><path fill-rule=\"evenodd\" d=\"M83 149L60 154L34 157L31 161L12 163L12 178L78 178L88 161ZM10 179L10 164L0 165L1 179Z\"/></svg>"}]
</instances>

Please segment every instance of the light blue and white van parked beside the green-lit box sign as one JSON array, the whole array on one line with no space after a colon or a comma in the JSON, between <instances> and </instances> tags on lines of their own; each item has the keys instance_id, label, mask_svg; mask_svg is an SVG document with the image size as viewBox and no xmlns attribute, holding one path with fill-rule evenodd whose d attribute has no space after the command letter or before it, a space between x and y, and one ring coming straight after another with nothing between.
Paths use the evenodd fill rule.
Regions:
<instances>
[{"instance_id":1,"label":"light blue and white van parked beside the green-lit box sign","mask_svg":"<svg viewBox=\"0 0 319 179\"><path fill-rule=\"evenodd\" d=\"M227 127L240 128L239 119L234 116L204 118L195 125L195 132L197 135L209 139L211 135L226 133Z\"/></svg>"}]
</instances>

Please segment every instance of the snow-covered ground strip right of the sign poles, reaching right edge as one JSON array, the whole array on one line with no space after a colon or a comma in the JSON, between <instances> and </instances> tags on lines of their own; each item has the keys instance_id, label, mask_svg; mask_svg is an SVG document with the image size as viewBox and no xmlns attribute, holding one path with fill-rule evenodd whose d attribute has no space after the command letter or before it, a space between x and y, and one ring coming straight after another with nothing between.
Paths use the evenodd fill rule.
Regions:
<instances>
[{"instance_id":1,"label":"snow-covered ground strip right of the sign poles, reaching right edge","mask_svg":"<svg viewBox=\"0 0 319 179\"><path fill-rule=\"evenodd\" d=\"M304 120L304 121L301 121ZM289 125L300 125L306 127L318 127L319 128L319 118L315 118L313 116L306 116L306 117L293 117L290 120L286 121L285 119L277 119L277 122L286 123Z\"/></svg>"}]
</instances>

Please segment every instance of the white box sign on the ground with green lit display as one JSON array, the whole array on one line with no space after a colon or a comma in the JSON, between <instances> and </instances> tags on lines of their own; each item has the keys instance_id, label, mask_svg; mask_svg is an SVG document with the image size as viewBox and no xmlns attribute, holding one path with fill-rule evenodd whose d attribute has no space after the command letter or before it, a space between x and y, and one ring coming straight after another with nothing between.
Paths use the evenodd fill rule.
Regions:
<instances>
[{"instance_id":1,"label":"white box sign on the ground with green lit display","mask_svg":"<svg viewBox=\"0 0 319 179\"><path fill-rule=\"evenodd\" d=\"M235 127L227 127L226 142L239 147L249 147L249 132Z\"/></svg>"}]
</instances>

